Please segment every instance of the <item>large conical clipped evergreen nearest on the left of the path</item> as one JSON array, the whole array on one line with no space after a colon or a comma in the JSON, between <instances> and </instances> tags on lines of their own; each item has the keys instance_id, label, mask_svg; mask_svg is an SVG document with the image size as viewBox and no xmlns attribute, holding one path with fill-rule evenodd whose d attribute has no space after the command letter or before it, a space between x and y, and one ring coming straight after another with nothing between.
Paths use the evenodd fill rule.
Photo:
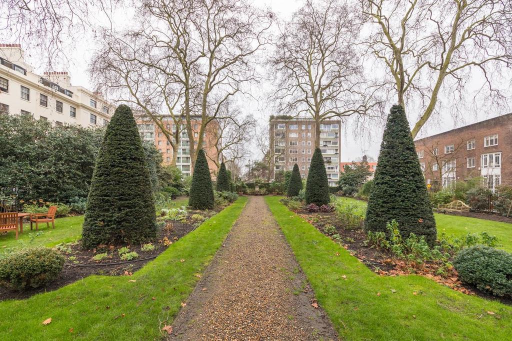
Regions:
<instances>
[{"instance_id":1,"label":"large conical clipped evergreen nearest on the left of the path","mask_svg":"<svg viewBox=\"0 0 512 341\"><path fill-rule=\"evenodd\" d=\"M85 248L156 238L150 173L132 110L119 105L106 127L83 222Z\"/></svg>"}]
</instances>

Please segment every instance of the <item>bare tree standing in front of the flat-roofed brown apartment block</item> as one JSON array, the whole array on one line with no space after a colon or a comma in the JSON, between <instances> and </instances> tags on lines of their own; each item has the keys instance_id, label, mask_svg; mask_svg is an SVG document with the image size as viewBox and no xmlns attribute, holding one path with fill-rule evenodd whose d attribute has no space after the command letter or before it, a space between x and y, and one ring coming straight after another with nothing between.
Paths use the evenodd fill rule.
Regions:
<instances>
[{"instance_id":1,"label":"bare tree standing in front of the flat-roofed brown apartment block","mask_svg":"<svg viewBox=\"0 0 512 341\"><path fill-rule=\"evenodd\" d=\"M315 146L324 120L366 115L378 104L356 50L361 25L358 11L343 0L307 0L285 24L271 58L273 100L283 114L311 115Z\"/></svg>"}]
</instances>

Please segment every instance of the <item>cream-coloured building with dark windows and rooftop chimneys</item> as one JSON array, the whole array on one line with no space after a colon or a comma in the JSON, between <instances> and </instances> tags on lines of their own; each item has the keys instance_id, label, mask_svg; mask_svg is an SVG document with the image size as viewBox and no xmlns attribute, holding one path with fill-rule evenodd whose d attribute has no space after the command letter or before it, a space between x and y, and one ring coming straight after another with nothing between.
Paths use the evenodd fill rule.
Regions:
<instances>
[{"instance_id":1,"label":"cream-coloured building with dark windows and rooftop chimneys","mask_svg":"<svg viewBox=\"0 0 512 341\"><path fill-rule=\"evenodd\" d=\"M114 110L101 94L72 86L68 72L38 75L19 44L0 44L0 114L95 126L106 125Z\"/></svg>"}]
</instances>

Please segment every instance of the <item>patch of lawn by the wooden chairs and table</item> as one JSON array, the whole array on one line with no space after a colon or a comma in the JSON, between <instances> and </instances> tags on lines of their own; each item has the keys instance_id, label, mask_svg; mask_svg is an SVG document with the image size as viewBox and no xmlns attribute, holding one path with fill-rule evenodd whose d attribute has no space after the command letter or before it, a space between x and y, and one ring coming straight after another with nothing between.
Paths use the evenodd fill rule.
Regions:
<instances>
[{"instance_id":1,"label":"patch of lawn by the wooden chairs and table","mask_svg":"<svg viewBox=\"0 0 512 341\"><path fill-rule=\"evenodd\" d=\"M30 245L55 246L59 243L74 242L80 239L82 235L83 216L66 217L55 219L55 228L46 227L46 224L40 225L38 233L30 231L30 223L23 225L23 233L18 234L14 231L0 236L0 252L9 248L18 248ZM42 226L42 227L41 227ZM30 240L33 238L33 241Z\"/></svg>"}]
</instances>

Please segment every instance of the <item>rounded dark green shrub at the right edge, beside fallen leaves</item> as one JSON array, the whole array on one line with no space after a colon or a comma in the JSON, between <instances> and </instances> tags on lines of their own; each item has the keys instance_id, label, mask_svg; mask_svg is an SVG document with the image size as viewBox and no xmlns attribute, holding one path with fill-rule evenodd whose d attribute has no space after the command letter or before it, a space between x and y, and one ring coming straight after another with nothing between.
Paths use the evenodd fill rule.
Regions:
<instances>
[{"instance_id":1,"label":"rounded dark green shrub at the right edge, beside fallen leaves","mask_svg":"<svg viewBox=\"0 0 512 341\"><path fill-rule=\"evenodd\" d=\"M496 296L512 296L512 254L476 245L460 251L453 264L463 282Z\"/></svg>"}]
</instances>

